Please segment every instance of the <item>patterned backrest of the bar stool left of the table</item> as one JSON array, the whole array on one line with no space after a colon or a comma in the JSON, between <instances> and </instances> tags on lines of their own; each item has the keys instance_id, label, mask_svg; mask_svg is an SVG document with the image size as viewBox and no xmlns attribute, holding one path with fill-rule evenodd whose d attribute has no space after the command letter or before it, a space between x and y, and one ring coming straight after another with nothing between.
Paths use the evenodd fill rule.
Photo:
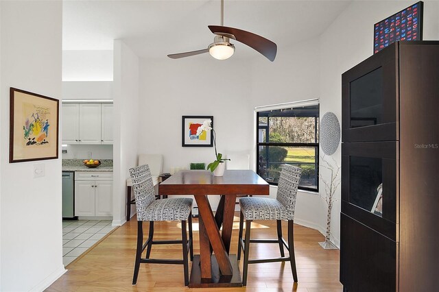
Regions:
<instances>
[{"instance_id":1,"label":"patterned backrest of the bar stool left of the table","mask_svg":"<svg viewBox=\"0 0 439 292\"><path fill-rule=\"evenodd\" d=\"M132 189L136 198L137 221L142 221L147 206L155 200L150 167L141 165L130 169Z\"/></svg>"}]
</instances>

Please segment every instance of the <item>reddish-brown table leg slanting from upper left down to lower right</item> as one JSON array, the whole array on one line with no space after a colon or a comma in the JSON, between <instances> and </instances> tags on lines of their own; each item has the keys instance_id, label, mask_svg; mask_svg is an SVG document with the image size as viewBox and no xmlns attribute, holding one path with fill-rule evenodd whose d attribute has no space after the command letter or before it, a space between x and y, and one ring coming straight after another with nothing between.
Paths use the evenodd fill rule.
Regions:
<instances>
[{"instance_id":1,"label":"reddish-brown table leg slanting from upper left down to lower right","mask_svg":"<svg viewBox=\"0 0 439 292\"><path fill-rule=\"evenodd\" d=\"M195 201L197 202L198 210L200 212L200 216L202 217L204 229L209 236L209 241L213 247L213 251L215 252L219 270L221 271L222 275L233 275L232 265L228 258L226 247L224 247L221 235L219 234L219 229L215 222L215 218L213 217L211 205L209 204L207 197L205 195L195 195ZM202 241L201 237L200 241ZM200 256L201 252L202 250L200 249ZM204 253L206 253L206 251L204 251ZM204 254L204 256L210 256L210 249L209 253Z\"/></svg>"}]
</instances>

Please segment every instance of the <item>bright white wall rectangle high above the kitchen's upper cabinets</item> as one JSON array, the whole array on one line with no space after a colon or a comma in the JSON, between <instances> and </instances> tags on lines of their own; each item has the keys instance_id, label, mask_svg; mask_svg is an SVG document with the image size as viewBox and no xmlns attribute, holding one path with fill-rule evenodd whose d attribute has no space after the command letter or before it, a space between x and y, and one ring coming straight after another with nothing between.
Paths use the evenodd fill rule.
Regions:
<instances>
[{"instance_id":1,"label":"bright white wall rectangle high above the kitchen's upper cabinets","mask_svg":"<svg viewBox=\"0 0 439 292\"><path fill-rule=\"evenodd\" d=\"M112 81L112 51L62 51L62 81Z\"/></svg>"}]
</instances>

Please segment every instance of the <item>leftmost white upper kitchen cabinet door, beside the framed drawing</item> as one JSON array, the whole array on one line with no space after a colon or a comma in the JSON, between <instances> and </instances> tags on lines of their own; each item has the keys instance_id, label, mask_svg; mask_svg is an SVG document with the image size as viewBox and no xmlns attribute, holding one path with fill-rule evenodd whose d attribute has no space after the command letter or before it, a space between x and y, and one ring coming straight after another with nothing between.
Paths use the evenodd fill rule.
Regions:
<instances>
[{"instance_id":1,"label":"leftmost white upper kitchen cabinet door, beside the framed drawing","mask_svg":"<svg viewBox=\"0 0 439 292\"><path fill-rule=\"evenodd\" d=\"M62 144L80 143L80 105L62 104Z\"/></svg>"}]
</instances>

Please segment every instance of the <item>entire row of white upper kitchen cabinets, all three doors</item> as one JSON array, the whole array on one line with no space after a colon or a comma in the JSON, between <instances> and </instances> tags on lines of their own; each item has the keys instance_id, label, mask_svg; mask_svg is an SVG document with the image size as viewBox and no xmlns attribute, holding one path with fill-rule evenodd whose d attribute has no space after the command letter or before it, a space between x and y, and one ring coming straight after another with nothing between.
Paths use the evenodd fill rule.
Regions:
<instances>
[{"instance_id":1,"label":"entire row of white upper kitchen cabinets, all three doors","mask_svg":"<svg viewBox=\"0 0 439 292\"><path fill-rule=\"evenodd\" d=\"M62 104L63 144L112 144L112 104Z\"/></svg>"}]
</instances>

